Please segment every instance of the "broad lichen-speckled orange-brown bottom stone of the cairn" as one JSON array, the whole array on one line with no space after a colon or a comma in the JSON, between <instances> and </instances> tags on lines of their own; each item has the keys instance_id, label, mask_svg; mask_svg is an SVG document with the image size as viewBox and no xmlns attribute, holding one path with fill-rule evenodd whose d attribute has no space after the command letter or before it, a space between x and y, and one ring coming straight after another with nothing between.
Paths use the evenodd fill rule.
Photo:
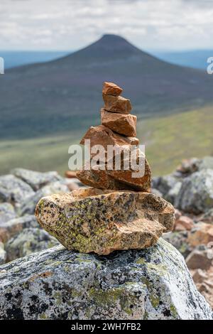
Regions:
<instances>
[{"instance_id":1,"label":"broad lichen-speckled orange-brown bottom stone of the cairn","mask_svg":"<svg viewBox=\"0 0 213 334\"><path fill-rule=\"evenodd\" d=\"M109 254L151 247L173 229L174 208L151 193L90 188L42 198L35 216L67 249Z\"/></svg>"}]
</instances>

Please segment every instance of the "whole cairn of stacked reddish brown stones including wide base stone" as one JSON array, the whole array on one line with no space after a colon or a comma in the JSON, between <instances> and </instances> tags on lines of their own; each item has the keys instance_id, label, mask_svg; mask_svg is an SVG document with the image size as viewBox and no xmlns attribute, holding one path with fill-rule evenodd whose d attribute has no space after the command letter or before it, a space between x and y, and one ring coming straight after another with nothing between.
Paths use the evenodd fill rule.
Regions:
<instances>
[{"instance_id":1,"label":"whole cairn of stacked reddish brown stones including wide base stone","mask_svg":"<svg viewBox=\"0 0 213 334\"><path fill-rule=\"evenodd\" d=\"M153 246L164 232L173 230L173 205L151 193L151 168L138 148L136 116L130 114L131 102L120 96L122 91L114 83L104 82L102 125L91 126L80 142L90 140L91 160L94 145L102 145L105 150L95 168L86 168L87 161L77 172L77 178L89 188L47 196L35 209L40 225L67 249L102 255L114 250L143 249ZM124 148L125 152L133 148L137 161L142 155L142 176L133 177L140 171L133 170L130 161L129 169L124 168L131 154L121 154L119 170L107 169L109 145L121 151ZM116 152L110 157L113 166Z\"/></svg>"}]
</instances>

